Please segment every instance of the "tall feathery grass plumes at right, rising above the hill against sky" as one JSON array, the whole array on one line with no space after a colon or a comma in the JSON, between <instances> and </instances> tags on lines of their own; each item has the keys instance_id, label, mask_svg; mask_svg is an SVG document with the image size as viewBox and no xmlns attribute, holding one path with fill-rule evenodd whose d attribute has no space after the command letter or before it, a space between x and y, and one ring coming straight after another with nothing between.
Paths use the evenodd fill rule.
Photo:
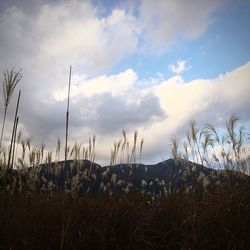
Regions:
<instances>
[{"instance_id":1,"label":"tall feathery grass plumes at right, rising above the hill against sky","mask_svg":"<svg viewBox=\"0 0 250 250\"><path fill-rule=\"evenodd\" d=\"M239 118L233 114L226 121L225 129L217 131L211 124L198 128L191 121L183 149L178 148L178 138L172 138L172 157L176 161L191 160L210 168L250 174L250 138L238 122Z\"/></svg>"}]
</instances>

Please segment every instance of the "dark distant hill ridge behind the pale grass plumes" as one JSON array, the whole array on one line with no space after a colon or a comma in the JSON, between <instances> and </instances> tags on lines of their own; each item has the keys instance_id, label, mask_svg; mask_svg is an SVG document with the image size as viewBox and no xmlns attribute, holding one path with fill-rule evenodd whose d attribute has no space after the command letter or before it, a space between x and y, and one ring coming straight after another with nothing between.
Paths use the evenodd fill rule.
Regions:
<instances>
[{"instance_id":1,"label":"dark distant hill ridge behind the pale grass plumes","mask_svg":"<svg viewBox=\"0 0 250 250\"><path fill-rule=\"evenodd\" d=\"M36 168L13 171L7 181L1 177L0 186L15 179L15 190L37 189L67 192L122 194L139 191L158 197L169 193L202 194L217 187L236 187L249 183L250 177L235 171L215 170L202 165L173 159L155 165L117 164L100 166L88 160L68 160L43 164ZM12 180L13 181L13 180Z\"/></svg>"}]
</instances>

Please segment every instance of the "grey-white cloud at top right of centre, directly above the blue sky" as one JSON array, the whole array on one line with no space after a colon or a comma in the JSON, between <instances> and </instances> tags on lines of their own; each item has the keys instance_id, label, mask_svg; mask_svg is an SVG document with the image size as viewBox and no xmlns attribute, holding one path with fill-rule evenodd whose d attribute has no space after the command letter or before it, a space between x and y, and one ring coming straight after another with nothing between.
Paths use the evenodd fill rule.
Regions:
<instances>
[{"instance_id":1,"label":"grey-white cloud at top right of centre, directly above the blue sky","mask_svg":"<svg viewBox=\"0 0 250 250\"><path fill-rule=\"evenodd\" d=\"M165 50L176 39L195 39L214 22L219 0L142 0L140 23L146 43ZM155 52L155 51L154 51Z\"/></svg>"}]
</instances>

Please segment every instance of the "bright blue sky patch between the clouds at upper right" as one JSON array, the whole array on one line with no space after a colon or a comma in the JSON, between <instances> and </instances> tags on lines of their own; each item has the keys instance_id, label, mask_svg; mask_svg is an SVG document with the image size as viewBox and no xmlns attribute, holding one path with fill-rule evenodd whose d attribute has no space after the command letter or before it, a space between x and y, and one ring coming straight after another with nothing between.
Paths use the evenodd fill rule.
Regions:
<instances>
[{"instance_id":1,"label":"bright blue sky patch between the clouds at upper right","mask_svg":"<svg viewBox=\"0 0 250 250\"><path fill-rule=\"evenodd\" d=\"M197 39L176 41L169 50L157 55L132 55L112 68L111 73L132 67L141 78L158 72L171 77L168 65L178 59L192 65L191 70L183 73L185 80L215 78L229 72L249 61L249 13L250 4L228 4L214 14L214 23Z\"/></svg>"}]
</instances>

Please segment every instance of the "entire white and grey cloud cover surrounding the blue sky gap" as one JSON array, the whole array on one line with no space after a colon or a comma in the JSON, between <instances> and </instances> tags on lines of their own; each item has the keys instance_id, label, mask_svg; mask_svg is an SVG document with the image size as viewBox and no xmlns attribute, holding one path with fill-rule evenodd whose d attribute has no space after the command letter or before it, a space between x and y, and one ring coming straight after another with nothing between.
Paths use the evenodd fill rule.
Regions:
<instances>
[{"instance_id":1,"label":"entire white and grey cloud cover surrounding the blue sky gap","mask_svg":"<svg viewBox=\"0 0 250 250\"><path fill-rule=\"evenodd\" d=\"M195 39L214 21L218 1L139 2L138 10L114 8L102 14L90 1L10 1L1 12L0 71L22 68L20 127L34 144L49 147L64 138L69 65L73 65L70 143L97 134L97 160L108 162L110 148L122 129L145 138L143 159L166 158L169 138L190 119L222 122L231 113L249 121L249 63L216 79L185 82L185 61L177 76L143 79L133 69L109 70L142 44L166 50L176 39ZM32 9L32 10L31 10ZM195 18L191 18L194 17ZM147 84L146 82L149 82ZM152 84L156 82L157 84ZM2 93L1 93L2 94ZM17 94L17 92L16 92ZM12 129L13 96L5 145ZM2 98L0 106L2 107Z\"/></svg>"}]
</instances>

